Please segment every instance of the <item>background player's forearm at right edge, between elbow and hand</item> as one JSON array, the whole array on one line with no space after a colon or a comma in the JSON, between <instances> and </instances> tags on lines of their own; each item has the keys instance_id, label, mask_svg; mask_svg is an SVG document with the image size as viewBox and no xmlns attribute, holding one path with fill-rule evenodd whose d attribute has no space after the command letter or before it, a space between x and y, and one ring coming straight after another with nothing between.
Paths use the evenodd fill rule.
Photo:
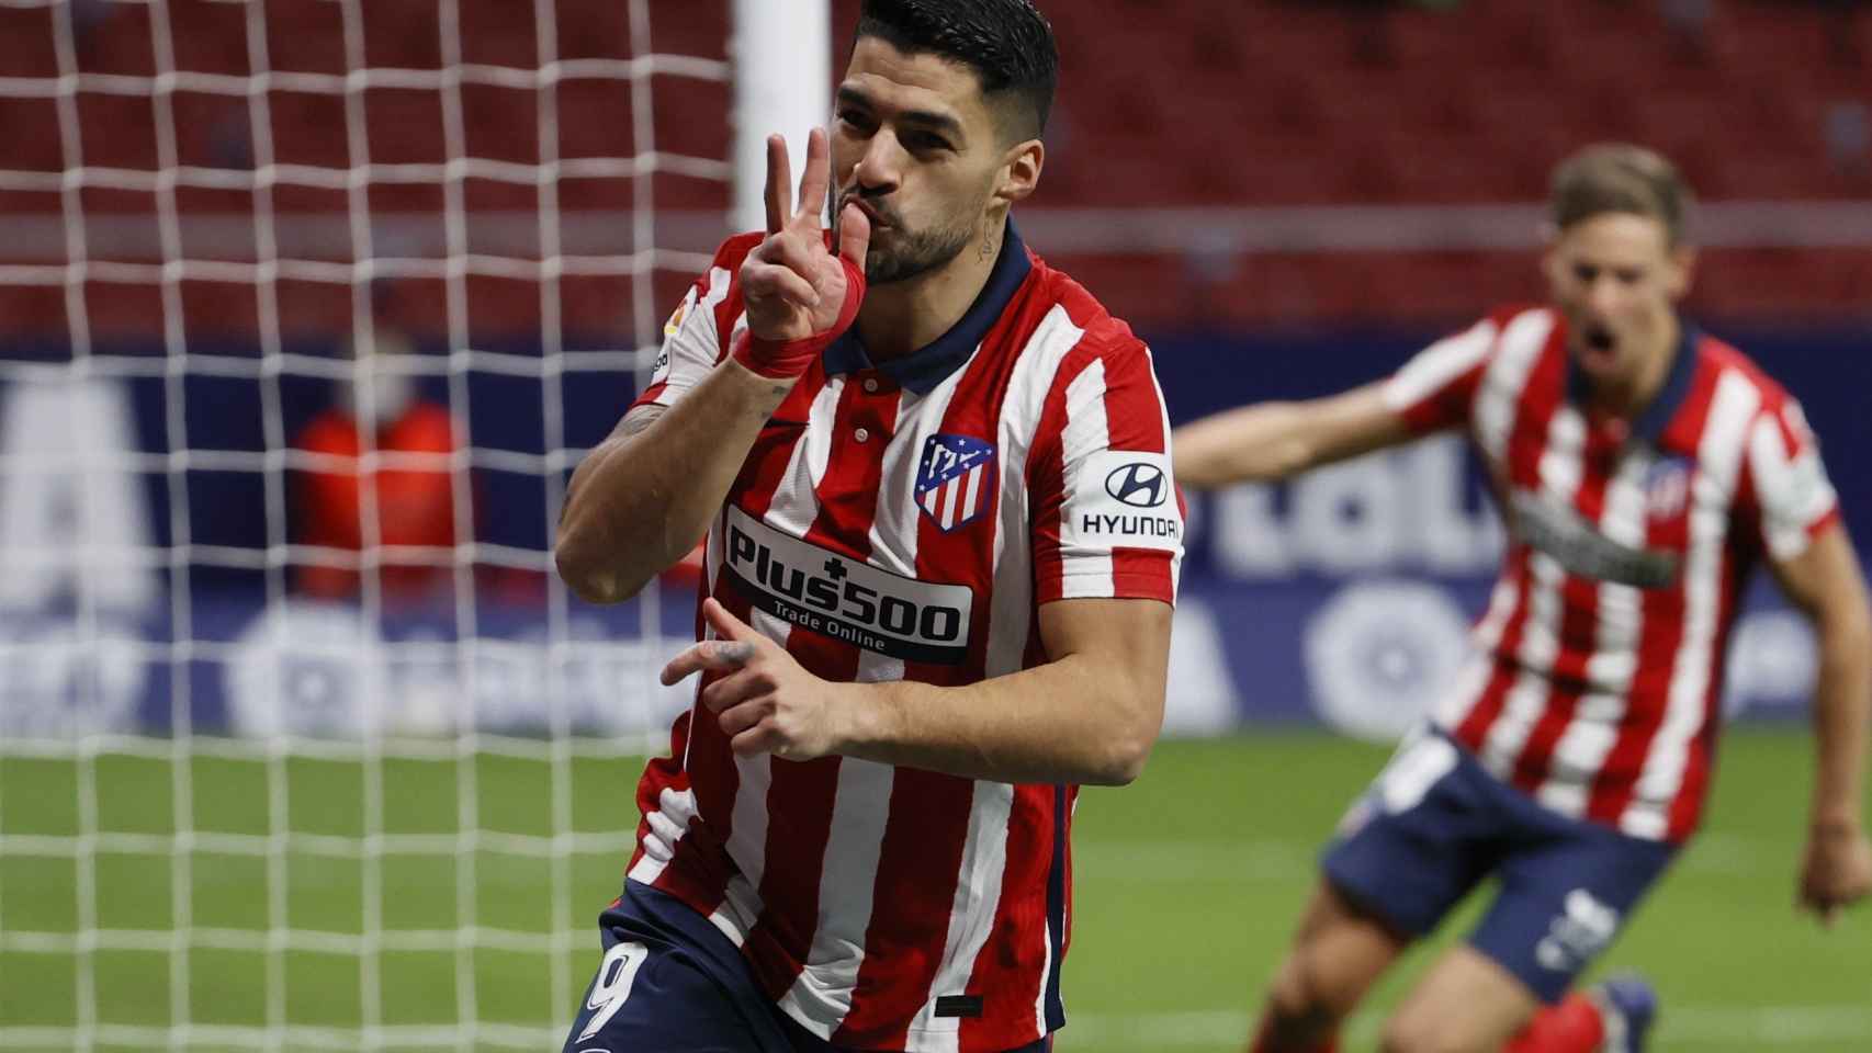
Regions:
<instances>
[{"instance_id":1,"label":"background player's forearm at right edge, between elbow and hand","mask_svg":"<svg viewBox=\"0 0 1872 1053\"><path fill-rule=\"evenodd\" d=\"M1814 688L1814 827L1859 827L1872 743L1872 623L1865 613L1821 621Z\"/></svg>"}]
</instances>

